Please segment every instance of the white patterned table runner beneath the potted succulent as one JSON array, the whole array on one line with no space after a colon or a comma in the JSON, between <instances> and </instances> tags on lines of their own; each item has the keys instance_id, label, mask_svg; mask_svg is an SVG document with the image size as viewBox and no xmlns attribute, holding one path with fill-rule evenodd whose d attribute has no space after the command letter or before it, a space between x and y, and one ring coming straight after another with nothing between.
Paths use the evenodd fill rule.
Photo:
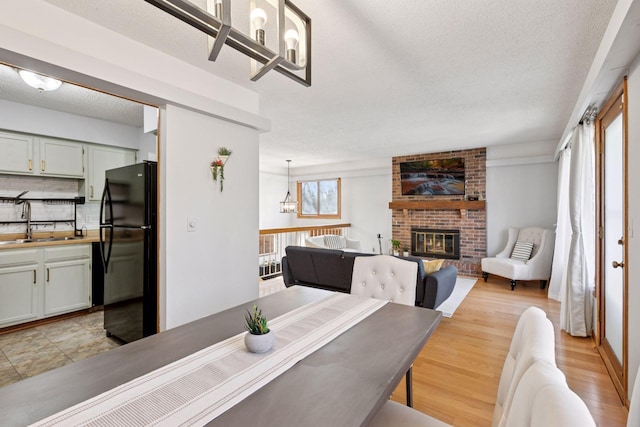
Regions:
<instances>
[{"instance_id":1,"label":"white patterned table runner beneath the potted succulent","mask_svg":"<svg viewBox=\"0 0 640 427\"><path fill-rule=\"evenodd\" d=\"M271 320L268 353L249 353L241 333L33 425L204 425L385 304L330 295Z\"/></svg>"}]
</instances>

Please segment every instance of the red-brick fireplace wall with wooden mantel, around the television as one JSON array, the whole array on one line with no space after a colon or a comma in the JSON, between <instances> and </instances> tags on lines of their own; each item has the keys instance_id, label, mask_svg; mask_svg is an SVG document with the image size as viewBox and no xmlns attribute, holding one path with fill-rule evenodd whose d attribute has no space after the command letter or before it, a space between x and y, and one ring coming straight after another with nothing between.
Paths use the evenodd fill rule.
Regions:
<instances>
[{"instance_id":1,"label":"red-brick fireplace wall with wooden mantel, around the television","mask_svg":"<svg viewBox=\"0 0 640 427\"><path fill-rule=\"evenodd\" d=\"M400 163L460 157L464 159L465 195L402 195ZM394 157L392 171L393 199L389 203L393 217L392 238L403 246L412 247L414 256L442 258L445 265L455 265L459 274L479 277L480 260L487 253L486 149ZM469 196L479 200L467 200ZM430 237L421 234L418 238L416 230L437 231ZM456 233L458 235L453 237ZM456 244L457 248L454 247ZM455 249L457 253L453 253Z\"/></svg>"}]
</instances>

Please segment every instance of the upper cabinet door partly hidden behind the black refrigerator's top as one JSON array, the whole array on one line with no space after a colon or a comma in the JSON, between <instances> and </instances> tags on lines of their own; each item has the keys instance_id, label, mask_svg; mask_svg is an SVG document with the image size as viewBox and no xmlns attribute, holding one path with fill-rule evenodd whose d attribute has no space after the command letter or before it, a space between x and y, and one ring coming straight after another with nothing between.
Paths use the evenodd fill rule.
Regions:
<instances>
[{"instance_id":1,"label":"upper cabinet door partly hidden behind the black refrigerator's top","mask_svg":"<svg viewBox=\"0 0 640 427\"><path fill-rule=\"evenodd\" d=\"M88 200L100 200L104 189L104 172L136 162L136 153L132 150L114 147L89 146L89 177L86 197Z\"/></svg>"}]
</instances>

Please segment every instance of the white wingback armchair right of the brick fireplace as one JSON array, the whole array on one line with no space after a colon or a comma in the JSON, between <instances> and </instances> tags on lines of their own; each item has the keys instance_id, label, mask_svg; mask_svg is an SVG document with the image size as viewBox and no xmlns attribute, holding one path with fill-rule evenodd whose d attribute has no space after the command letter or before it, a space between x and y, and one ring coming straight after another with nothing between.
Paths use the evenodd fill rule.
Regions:
<instances>
[{"instance_id":1,"label":"white wingback armchair right of the brick fireplace","mask_svg":"<svg viewBox=\"0 0 640 427\"><path fill-rule=\"evenodd\" d=\"M483 258L482 277L487 281L489 274L511 279L511 290L517 280L540 280L544 289L551 276L555 236L552 230L540 227L509 228L509 239L504 249L495 257ZM529 259L517 259L513 255L516 242L533 243Z\"/></svg>"}]
</instances>

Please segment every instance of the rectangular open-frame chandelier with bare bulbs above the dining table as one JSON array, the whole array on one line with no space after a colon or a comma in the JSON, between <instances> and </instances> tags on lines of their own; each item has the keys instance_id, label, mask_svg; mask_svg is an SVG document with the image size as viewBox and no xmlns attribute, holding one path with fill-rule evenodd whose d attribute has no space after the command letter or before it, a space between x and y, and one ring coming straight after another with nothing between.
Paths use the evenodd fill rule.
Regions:
<instances>
[{"instance_id":1,"label":"rectangular open-frame chandelier with bare bulbs above the dining table","mask_svg":"<svg viewBox=\"0 0 640 427\"><path fill-rule=\"evenodd\" d=\"M226 44L252 59L252 81L275 70L311 86L311 19L289 0L249 0L243 20L251 35L231 26L231 0L207 0L207 10L187 0L145 1L209 35L210 61Z\"/></svg>"}]
</instances>

